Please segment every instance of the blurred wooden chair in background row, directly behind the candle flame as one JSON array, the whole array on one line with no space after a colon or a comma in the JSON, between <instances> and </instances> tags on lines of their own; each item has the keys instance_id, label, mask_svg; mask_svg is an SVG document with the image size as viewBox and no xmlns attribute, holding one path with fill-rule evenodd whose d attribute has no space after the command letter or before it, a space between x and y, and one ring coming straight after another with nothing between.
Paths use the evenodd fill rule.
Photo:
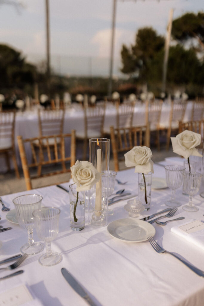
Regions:
<instances>
[{"instance_id":1,"label":"blurred wooden chair in background row, directly behind the candle flame","mask_svg":"<svg viewBox=\"0 0 204 306\"><path fill-rule=\"evenodd\" d=\"M84 131L76 131L76 139L83 140L83 160L86 160L87 142L90 138L101 137L105 117L105 105L85 107Z\"/></svg>"}]
</instances>

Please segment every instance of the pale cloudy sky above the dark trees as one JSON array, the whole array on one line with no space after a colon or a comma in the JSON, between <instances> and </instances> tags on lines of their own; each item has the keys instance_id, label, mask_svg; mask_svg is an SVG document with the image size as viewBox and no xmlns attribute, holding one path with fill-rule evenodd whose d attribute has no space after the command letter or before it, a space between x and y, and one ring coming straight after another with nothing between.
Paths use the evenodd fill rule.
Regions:
<instances>
[{"instance_id":1,"label":"pale cloudy sky above the dark trees","mask_svg":"<svg viewBox=\"0 0 204 306\"><path fill-rule=\"evenodd\" d=\"M31 55L43 58L46 54L45 0L19 1L24 4L20 12L13 6L0 5L0 43L22 51L27 58ZM83 58L88 71L92 66L97 67L99 59L105 63L110 57L113 0L49 2L53 64L59 68L68 62L77 64L77 58ZM139 28L151 26L158 34L165 35L172 8L175 19L186 12L203 11L204 1L117 0L114 58L120 61L122 44L133 44Z\"/></svg>"}]
</instances>

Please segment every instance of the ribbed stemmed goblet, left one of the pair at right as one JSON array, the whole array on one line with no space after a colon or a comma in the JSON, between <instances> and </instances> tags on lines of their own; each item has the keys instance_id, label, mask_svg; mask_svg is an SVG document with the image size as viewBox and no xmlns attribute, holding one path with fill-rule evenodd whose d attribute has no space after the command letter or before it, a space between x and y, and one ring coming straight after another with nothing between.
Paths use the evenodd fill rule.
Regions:
<instances>
[{"instance_id":1,"label":"ribbed stemmed goblet, left one of the pair at right","mask_svg":"<svg viewBox=\"0 0 204 306\"><path fill-rule=\"evenodd\" d=\"M184 166L168 165L165 166L166 183L171 189L171 199L165 201L165 204L169 207L179 207L181 203L176 201L176 189L182 185Z\"/></svg>"}]
</instances>

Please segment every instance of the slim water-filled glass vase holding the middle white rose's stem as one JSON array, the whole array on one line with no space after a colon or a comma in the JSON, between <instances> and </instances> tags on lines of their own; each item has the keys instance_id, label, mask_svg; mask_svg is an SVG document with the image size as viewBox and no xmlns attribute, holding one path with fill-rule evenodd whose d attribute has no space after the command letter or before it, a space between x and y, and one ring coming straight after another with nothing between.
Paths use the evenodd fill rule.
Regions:
<instances>
[{"instance_id":1,"label":"slim water-filled glass vase holding the middle white rose's stem","mask_svg":"<svg viewBox=\"0 0 204 306\"><path fill-rule=\"evenodd\" d=\"M151 202L152 172L138 173L138 200L148 209Z\"/></svg>"}]
</instances>

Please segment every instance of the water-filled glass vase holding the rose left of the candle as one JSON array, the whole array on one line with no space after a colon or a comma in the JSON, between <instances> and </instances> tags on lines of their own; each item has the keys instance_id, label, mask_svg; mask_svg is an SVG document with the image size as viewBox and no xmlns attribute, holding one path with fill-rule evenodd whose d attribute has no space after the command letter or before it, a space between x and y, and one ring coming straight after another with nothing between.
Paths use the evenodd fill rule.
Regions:
<instances>
[{"instance_id":1,"label":"water-filled glass vase holding the rose left of the candle","mask_svg":"<svg viewBox=\"0 0 204 306\"><path fill-rule=\"evenodd\" d=\"M76 184L69 185L70 227L80 231L85 226L85 191L76 191Z\"/></svg>"}]
</instances>

